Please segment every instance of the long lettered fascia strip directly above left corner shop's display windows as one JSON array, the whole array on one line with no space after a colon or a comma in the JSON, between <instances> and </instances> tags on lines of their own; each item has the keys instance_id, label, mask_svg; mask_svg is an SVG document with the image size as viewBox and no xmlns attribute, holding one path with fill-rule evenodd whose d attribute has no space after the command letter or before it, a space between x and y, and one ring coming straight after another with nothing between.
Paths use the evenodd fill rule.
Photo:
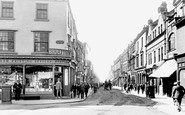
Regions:
<instances>
[{"instance_id":1,"label":"long lettered fascia strip directly above left corner shop's display windows","mask_svg":"<svg viewBox=\"0 0 185 115\"><path fill-rule=\"evenodd\" d=\"M69 64L67 61L63 60L19 60L19 59L0 59L0 63L24 63L24 64L31 64L31 63L57 63L57 64Z\"/></svg>"}]
</instances>

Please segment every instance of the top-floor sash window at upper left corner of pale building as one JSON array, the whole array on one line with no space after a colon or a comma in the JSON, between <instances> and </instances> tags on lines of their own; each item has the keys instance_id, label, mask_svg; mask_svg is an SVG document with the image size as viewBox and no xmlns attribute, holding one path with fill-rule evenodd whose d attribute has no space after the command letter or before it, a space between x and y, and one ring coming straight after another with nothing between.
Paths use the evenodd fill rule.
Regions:
<instances>
[{"instance_id":1,"label":"top-floor sash window at upper left corner of pale building","mask_svg":"<svg viewBox=\"0 0 185 115\"><path fill-rule=\"evenodd\" d=\"M2 2L2 17L13 18L13 2Z\"/></svg>"}]
</instances>

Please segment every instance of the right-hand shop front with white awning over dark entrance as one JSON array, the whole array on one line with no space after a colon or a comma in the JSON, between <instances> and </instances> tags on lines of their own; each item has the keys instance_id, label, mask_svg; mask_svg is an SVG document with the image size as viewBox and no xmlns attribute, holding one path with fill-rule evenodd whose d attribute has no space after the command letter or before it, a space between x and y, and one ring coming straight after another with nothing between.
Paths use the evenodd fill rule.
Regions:
<instances>
[{"instance_id":1,"label":"right-hand shop front with white awning over dark entrance","mask_svg":"<svg viewBox=\"0 0 185 115\"><path fill-rule=\"evenodd\" d=\"M175 59L166 60L151 75L152 84L155 85L155 92L160 95L171 96L173 83L176 81L177 62Z\"/></svg>"}]
</instances>

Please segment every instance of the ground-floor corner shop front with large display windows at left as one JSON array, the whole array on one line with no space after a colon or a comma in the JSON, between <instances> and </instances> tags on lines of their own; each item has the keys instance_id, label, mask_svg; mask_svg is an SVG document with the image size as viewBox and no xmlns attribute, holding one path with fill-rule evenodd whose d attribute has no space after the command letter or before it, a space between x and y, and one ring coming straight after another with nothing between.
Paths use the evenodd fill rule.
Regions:
<instances>
[{"instance_id":1,"label":"ground-floor corner shop front with large display windows at left","mask_svg":"<svg viewBox=\"0 0 185 115\"><path fill-rule=\"evenodd\" d=\"M59 56L1 56L0 85L20 81L23 95L54 96L57 79L63 86L62 95L69 96L74 69L70 59Z\"/></svg>"}]
</instances>

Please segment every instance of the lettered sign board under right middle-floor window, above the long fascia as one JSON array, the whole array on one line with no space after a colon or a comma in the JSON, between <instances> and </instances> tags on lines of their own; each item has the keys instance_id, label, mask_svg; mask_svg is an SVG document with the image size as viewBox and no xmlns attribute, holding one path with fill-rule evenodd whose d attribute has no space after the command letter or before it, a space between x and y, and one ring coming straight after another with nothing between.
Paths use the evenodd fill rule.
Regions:
<instances>
[{"instance_id":1,"label":"lettered sign board under right middle-floor window, above the long fascia","mask_svg":"<svg viewBox=\"0 0 185 115\"><path fill-rule=\"evenodd\" d=\"M64 49L49 49L49 54L71 57L71 52L69 50Z\"/></svg>"}]
</instances>

